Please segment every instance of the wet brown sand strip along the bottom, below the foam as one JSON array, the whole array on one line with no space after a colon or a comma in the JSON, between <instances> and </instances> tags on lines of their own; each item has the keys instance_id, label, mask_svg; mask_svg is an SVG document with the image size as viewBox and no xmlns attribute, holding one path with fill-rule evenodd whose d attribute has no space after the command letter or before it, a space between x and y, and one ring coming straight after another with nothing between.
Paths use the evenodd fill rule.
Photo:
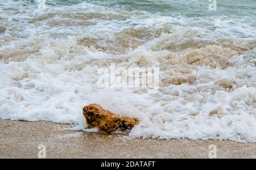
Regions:
<instances>
[{"instance_id":1,"label":"wet brown sand strip along the bottom, below the foam","mask_svg":"<svg viewBox=\"0 0 256 170\"><path fill-rule=\"evenodd\" d=\"M132 139L71 126L0 120L0 158L38 158L39 145L46 146L46 158L209 158L209 145L216 145L217 158L256 158L256 143Z\"/></svg>"}]
</instances>

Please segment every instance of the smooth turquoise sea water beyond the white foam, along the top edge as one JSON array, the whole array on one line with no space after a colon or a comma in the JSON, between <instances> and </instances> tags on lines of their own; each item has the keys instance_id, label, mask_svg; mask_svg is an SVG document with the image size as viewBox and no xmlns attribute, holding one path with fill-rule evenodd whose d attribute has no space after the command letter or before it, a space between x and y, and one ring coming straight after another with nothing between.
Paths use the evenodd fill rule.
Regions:
<instances>
[{"instance_id":1,"label":"smooth turquoise sea water beyond the white foam, along the top edge","mask_svg":"<svg viewBox=\"0 0 256 170\"><path fill-rule=\"evenodd\" d=\"M209 11L208 0L119 0L119 1L93 1L93 0L49 0L47 5L75 5L82 2L93 3L114 8L123 8L126 10L147 11L151 13L160 13L162 15L185 15L185 16L212 16L212 15L246 15L255 16L256 5L254 0L217 0L217 12ZM26 4L35 4L36 1L24 1Z\"/></svg>"}]
</instances>

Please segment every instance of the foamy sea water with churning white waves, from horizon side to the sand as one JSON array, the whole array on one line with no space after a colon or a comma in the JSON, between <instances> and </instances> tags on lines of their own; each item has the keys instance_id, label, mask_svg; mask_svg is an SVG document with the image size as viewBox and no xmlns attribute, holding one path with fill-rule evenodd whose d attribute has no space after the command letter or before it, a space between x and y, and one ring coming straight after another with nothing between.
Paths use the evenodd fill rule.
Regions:
<instances>
[{"instance_id":1,"label":"foamy sea water with churning white waves, from horizon side to the sand","mask_svg":"<svg viewBox=\"0 0 256 170\"><path fill-rule=\"evenodd\" d=\"M0 1L0 118L86 127L82 107L140 118L130 135L256 141L254 1ZM100 88L99 68L157 67L159 90Z\"/></svg>"}]
</instances>

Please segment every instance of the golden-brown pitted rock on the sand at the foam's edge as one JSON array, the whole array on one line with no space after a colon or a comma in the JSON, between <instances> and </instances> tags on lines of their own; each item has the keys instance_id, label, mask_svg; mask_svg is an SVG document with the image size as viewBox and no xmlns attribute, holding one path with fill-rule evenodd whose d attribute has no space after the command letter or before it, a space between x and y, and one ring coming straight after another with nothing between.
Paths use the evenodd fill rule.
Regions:
<instances>
[{"instance_id":1,"label":"golden-brown pitted rock on the sand at the foam's edge","mask_svg":"<svg viewBox=\"0 0 256 170\"><path fill-rule=\"evenodd\" d=\"M118 114L103 109L98 104L86 105L82 110L88 128L98 128L106 134L116 130L131 130L139 123L138 118L119 116Z\"/></svg>"}]
</instances>

